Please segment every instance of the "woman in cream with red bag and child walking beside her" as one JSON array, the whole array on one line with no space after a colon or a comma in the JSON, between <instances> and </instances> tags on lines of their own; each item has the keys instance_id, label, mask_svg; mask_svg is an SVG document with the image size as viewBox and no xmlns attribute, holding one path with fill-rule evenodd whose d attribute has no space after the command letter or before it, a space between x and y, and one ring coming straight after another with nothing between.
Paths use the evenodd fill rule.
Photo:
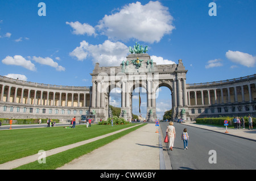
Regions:
<instances>
[{"instance_id":1,"label":"woman in cream with red bag and child walking beside her","mask_svg":"<svg viewBox=\"0 0 256 181\"><path fill-rule=\"evenodd\" d=\"M167 129L166 129L166 133L168 136L168 142L169 142L169 148L170 150L172 150L173 146L174 146L174 140L176 137L176 131L175 131L175 127L174 127L174 122L170 122ZM187 128L184 128L182 134L181 134L181 140L183 140L183 145L184 145L184 150L188 149L188 132L187 132Z\"/></svg>"}]
</instances>

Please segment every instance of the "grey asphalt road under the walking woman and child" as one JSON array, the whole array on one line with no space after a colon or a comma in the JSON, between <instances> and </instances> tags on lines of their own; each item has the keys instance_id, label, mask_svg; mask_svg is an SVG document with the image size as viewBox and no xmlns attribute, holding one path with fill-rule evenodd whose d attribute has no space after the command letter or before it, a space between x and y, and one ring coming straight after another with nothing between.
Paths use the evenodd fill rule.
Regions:
<instances>
[{"instance_id":1,"label":"grey asphalt road under the walking woman and child","mask_svg":"<svg viewBox=\"0 0 256 181\"><path fill-rule=\"evenodd\" d=\"M163 135L169 123L160 123ZM255 141L228 134L174 123L176 139L173 151L168 150L174 170L244 170L256 169ZM181 133L187 128L188 150L184 150ZM167 149L163 145L163 149ZM216 162L216 163L215 163Z\"/></svg>"}]
</instances>

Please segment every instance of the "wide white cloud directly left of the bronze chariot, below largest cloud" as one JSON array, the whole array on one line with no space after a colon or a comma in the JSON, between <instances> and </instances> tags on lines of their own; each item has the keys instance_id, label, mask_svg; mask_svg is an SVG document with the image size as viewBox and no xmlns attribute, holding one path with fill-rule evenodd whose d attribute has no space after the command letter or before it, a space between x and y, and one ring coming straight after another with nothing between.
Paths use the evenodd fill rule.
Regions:
<instances>
[{"instance_id":1,"label":"wide white cloud directly left of the bronze chariot, below largest cloud","mask_svg":"<svg viewBox=\"0 0 256 181\"><path fill-rule=\"evenodd\" d=\"M119 41L113 43L106 40L102 44L90 45L84 40L69 55L80 61L90 56L94 63L98 62L101 66L118 66L122 60L126 60L128 53L129 48Z\"/></svg>"}]
</instances>

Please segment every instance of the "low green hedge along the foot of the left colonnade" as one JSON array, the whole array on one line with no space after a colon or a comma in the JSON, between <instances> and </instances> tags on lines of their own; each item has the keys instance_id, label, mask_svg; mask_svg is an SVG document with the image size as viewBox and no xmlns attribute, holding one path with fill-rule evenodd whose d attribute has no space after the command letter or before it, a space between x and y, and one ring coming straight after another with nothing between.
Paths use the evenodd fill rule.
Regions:
<instances>
[{"instance_id":1,"label":"low green hedge along the foot of the left colonnade","mask_svg":"<svg viewBox=\"0 0 256 181\"><path fill-rule=\"evenodd\" d=\"M0 118L0 121L2 122L2 124L10 124L10 120L11 119L3 119ZM36 124L39 123L39 119L12 119L13 120L13 124ZM48 119L41 119L41 124L42 123L47 123ZM59 123L60 120L59 119L52 119L52 121L55 123Z\"/></svg>"}]
</instances>

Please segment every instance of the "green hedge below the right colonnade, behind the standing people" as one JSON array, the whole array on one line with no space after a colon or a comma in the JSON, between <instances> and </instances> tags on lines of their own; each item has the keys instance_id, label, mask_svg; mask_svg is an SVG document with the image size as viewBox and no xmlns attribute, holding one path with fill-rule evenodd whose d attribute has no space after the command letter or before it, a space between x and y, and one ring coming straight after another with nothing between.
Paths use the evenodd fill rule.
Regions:
<instances>
[{"instance_id":1,"label":"green hedge below the right colonnade, behind the standing people","mask_svg":"<svg viewBox=\"0 0 256 181\"><path fill-rule=\"evenodd\" d=\"M228 120L229 125L233 125L233 118L234 117L205 117L205 118L197 118L196 123L199 124L216 124L216 125L224 125L224 121ZM245 119L245 126L248 127L248 117L243 117ZM253 127L256 124L256 118L253 117Z\"/></svg>"}]
</instances>

